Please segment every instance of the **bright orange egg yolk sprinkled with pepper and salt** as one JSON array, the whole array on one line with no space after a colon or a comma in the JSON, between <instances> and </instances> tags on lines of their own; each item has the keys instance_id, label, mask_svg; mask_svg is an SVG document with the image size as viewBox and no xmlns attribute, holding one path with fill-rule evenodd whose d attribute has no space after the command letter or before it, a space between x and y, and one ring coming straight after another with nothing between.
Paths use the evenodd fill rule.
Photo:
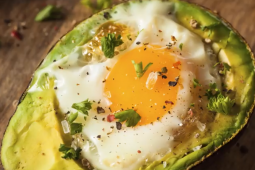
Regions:
<instances>
[{"instance_id":1,"label":"bright orange egg yolk sprinkled with pepper and salt","mask_svg":"<svg viewBox=\"0 0 255 170\"><path fill-rule=\"evenodd\" d=\"M120 56L105 82L104 92L112 102L112 112L134 109L140 116L138 125L146 125L159 120L173 107L177 100L181 79L174 87L169 86L169 81L175 81L180 76L181 65L174 67L177 62L174 56L169 54L169 49L159 49L159 46L139 47ZM142 62L143 68L148 63L153 63L141 78L137 78L132 60ZM179 62L180 63L180 62ZM152 90L146 88L146 81L151 72L164 73L167 78L158 76ZM172 102L172 103L171 103Z\"/></svg>"}]
</instances>

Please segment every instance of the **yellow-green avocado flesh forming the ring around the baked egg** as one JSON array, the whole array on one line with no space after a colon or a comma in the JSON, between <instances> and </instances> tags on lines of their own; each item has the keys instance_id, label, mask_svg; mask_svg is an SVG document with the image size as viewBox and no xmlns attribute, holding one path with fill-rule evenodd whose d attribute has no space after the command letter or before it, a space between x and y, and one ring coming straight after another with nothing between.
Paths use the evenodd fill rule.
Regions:
<instances>
[{"instance_id":1,"label":"yellow-green avocado flesh forming the ring around the baked egg","mask_svg":"<svg viewBox=\"0 0 255 170\"><path fill-rule=\"evenodd\" d=\"M119 8L132 8L136 3L144 1L126 2L93 15L64 35L50 50L35 71L6 129L1 150L1 160L6 170L86 169L80 161L61 158L59 145L70 144L71 137L62 131L60 120L63 116L58 113L54 80L47 74L38 76L37 73L55 60L66 57L76 46L91 40L95 32L90 30L111 20L108 14L117 12ZM235 91L235 113L218 114L215 117L217 123L210 126L210 132L196 140L188 139L193 146L201 146L201 149L187 150L184 142L161 160L143 166L140 170L190 169L233 139L247 124L254 107L254 56L240 34L220 16L199 5L173 1L173 10L179 24L203 39L209 37L218 60L230 63L231 72L224 78L224 83ZM191 19L202 29L194 29L190 24ZM35 82L41 91L29 91ZM163 161L167 163L166 167L163 167Z\"/></svg>"}]
</instances>

